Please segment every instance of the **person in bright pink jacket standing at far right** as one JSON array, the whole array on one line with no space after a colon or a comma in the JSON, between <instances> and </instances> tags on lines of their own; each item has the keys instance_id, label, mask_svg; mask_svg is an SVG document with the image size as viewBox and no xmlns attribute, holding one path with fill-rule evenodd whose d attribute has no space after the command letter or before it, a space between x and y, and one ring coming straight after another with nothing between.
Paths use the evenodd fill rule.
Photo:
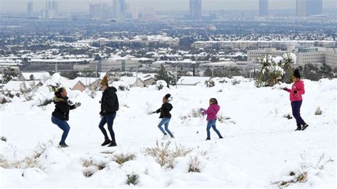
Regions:
<instances>
[{"instance_id":1,"label":"person in bright pink jacket standing at far right","mask_svg":"<svg viewBox=\"0 0 337 189\"><path fill-rule=\"evenodd\" d=\"M287 87L284 88L290 95L292 115L296 119L297 129L295 131L301 131L306 129L309 125L301 118L301 104L302 104L302 95L304 95L304 83L301 80L301 74L299 70L294 70L293 74L294 84L291 87L291 90Z\"/></svg>"}]
</instances>

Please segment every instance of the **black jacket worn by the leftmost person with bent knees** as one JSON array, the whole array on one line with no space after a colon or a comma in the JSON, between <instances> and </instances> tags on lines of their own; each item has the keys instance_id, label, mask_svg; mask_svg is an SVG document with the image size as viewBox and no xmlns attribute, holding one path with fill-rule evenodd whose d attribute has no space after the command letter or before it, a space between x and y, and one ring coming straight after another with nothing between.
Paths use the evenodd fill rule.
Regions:
<instances>
[{"instance_id":1,"label":"black jacket worn by the leftmost person with bent knees","mask_svg":"<svg viewBox=\"0 0 337 189\"><path fill-rule=\"evenodd\" d=\"M70 109L75 109L75 105L68 103L68 97L65 98L54 97L53 102L55 104L55 110L52 113L53 117L57 117L58 119L68 121L69 111Z\"/></svg>"}]
</instances>

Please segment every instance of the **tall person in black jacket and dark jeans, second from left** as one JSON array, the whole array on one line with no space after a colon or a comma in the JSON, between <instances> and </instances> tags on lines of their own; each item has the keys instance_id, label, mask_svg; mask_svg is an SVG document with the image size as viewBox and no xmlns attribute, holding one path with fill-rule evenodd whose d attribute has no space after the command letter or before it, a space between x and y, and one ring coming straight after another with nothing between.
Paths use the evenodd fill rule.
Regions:
<instances>
[{"instance_id":1,"label":"tall person in black jacket and dark jeans, second from left","mask_svg":"<svg viewBox=\"0 0 337 189\"><path fill-rule=\"evenodd\" d=\"M114 124L114 119L116 118L116 113L119 109L119 102L117 97L117 90L114 87L109 87L109 80L107 76L103 77L103 80L100 82L101 90L103 91L101 103L101 121L99 124L99 128L102 131L105 141L103 142L102 146L109 144L111 146L117 146L116 139L114 138L114 130L112 126ZM105 124L107 124L107 129L109 130L111 140L107 135L107 131L105 131Z\"/></svg>"}]
</instances>

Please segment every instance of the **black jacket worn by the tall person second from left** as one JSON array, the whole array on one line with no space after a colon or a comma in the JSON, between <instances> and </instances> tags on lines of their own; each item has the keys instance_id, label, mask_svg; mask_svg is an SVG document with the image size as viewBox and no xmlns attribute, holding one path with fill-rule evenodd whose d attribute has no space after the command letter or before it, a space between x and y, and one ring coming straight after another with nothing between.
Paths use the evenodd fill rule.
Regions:
<instances>
[{"instance_id":1,"label":"black jacket worn by the tall person second from left","mask_svg":"<svg viewBox=\"0 0 337 189\"><path fill-rule=\"evenodd\" d=\"M102 116L107 114L115 114L119 109L117 89L115 87L108 87L107 90L103 92L101 99L101 112Z\"/></svg>"}]
</instances>

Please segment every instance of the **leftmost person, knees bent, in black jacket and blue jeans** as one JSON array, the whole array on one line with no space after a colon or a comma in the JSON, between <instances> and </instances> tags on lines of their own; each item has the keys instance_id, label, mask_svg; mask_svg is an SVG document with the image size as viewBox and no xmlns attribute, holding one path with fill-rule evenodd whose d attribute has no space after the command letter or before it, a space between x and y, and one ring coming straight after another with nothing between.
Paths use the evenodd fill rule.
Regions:
<instances>
[{"instance_id":1,"label":"leftmost person, knees bent, in black jacket and blue jeans","mask_svg":"<svg viewBox=\"0 0 337 189\"><path fill-rule=\"evenodd\" d=\"M73 102L68 99L67 95L67 90L62 87L57 92L55 92L55 97L53 99L55 110L52 113L51 121L53 124L57 125L60 127L60 129L63 130L60 141L61 148L68 147L68 145L65 144L65 139L67 139L70 130L70 126L67 123L69 120L69 111L70 109L75 109L81 106L80 102L73 104Z\"/></svg>"}]
</instances>

